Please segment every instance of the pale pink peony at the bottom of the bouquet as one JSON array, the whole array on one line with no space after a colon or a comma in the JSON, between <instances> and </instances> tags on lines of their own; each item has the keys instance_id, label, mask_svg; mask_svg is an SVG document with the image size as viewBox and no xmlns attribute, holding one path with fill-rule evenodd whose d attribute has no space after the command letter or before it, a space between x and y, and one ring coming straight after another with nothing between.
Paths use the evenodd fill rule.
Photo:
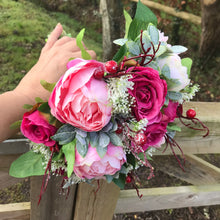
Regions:
<instances>
[{"instance_id":1,"label":"pale pink peony at the bottom of the bouquet","mask_svg":"<svg viewBox=\"0 0 220 220\"><path fill-rule=\"evenodd\" d=\"M104 175L114 175L125 162L126 156L122 147L116 147L110 143L107 153L100 158L96 148L89 145L84 158L76 150L74 172L83 179L101 179Z\"/></svg>"}]
</instances>

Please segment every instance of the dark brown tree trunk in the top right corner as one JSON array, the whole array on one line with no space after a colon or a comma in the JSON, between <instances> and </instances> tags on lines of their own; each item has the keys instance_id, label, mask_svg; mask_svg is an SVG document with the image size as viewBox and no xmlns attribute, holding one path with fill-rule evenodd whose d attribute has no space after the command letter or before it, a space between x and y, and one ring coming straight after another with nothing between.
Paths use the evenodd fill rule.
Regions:
<instances>
[{"instance_id":1,"label":"dark brown tree trunk in the top right corner","mask_svg":"<svg viewBox=\"0 0 220 220\"><path fill-rule=\"evenodd\" d=\"M220 50L220 1L201 0L202 36L200 57L210 59L219 55Z\"/></svg>"}]
</instances>

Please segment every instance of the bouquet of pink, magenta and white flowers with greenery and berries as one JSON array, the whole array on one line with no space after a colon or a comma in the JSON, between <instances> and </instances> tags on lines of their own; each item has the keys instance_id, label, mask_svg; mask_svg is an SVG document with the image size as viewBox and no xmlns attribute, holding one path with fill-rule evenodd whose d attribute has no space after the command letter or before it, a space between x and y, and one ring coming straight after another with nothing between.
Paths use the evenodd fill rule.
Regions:
<instances>
[{"instance_id":1,"label":"bouquet of pink, magenta and white flowers with greenery and berries","mask_svg":"<svg viewBox=\"0 0 220 220\"><path fill-rule=\"evenodd\" d=\"M105 179L123 188L134 182L134 171L149 168L150 159L165 144L172 149L179 118L200 122L193 109L182 114L182 103L198 91L190 82L192 60L181 59L187 48L168 44L157 29L156 16L141 2L134 19L127 12L125 37L115 40L120 49L105 63L90 60L77 36L83 59L72 59L54 85L42 80L51 92L49 101L36 98L21 122L30 140L30 151L14 161L15 177L63 176L63 188L80 182ZM208 129L202 122L200 130ZM174 152L174 150L173 150ZM180 160L176 156L180 166Z\"/></svg>"}]
</instances>

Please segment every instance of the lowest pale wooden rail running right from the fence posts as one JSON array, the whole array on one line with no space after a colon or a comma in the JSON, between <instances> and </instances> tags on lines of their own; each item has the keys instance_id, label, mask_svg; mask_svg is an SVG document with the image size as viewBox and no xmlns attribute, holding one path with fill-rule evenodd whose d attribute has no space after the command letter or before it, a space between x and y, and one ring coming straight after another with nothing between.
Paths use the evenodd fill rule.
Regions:
<instances>
[{"instance_id":1,"label":"lowest pale wooden rail running right from the fence posts","mask_svg":"<svg viewBox=\"0 0 220 220\"><path fill-rule=\"evenodd\" d=\"M123 190L115 213L144 212L162 209L195 207L220 204L220 184L206 186L179 186Z\"/></svg>"}]
</instances>

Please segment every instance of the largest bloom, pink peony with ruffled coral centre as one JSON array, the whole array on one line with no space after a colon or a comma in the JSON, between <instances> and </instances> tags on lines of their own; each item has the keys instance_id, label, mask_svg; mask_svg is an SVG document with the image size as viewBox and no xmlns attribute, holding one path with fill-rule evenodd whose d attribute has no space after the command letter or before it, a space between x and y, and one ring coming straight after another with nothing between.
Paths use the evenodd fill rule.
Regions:
<instances>
[{"instance_id":1,"label":"largest bloom, pink peony with ruffled coral centre","mask_svg":"<svg viewBox=\"0 0 220 220\"><path fill-rule=\"evenodd\" d=\"M104 64L75 59L67 67L49 99L51 113L61 122L82 130L101 130L110 121L112 109L108 103L107 84L93 75L104 71Z\"/></svg>"}]
</instances>

